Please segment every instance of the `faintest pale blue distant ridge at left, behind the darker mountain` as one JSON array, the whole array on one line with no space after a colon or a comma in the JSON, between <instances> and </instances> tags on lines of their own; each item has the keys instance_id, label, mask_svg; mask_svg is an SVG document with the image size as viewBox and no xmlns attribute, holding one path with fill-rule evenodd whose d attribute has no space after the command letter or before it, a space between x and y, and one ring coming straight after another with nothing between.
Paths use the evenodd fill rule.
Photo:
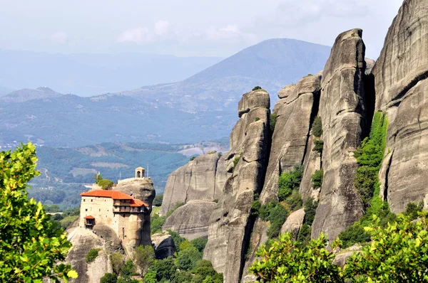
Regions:
<instances>
[{"instance_id":1,"label":"faintest pale blue distant ridge at left, behind the darker mountain","mask_svg":"<svg viewBox=\"0 0 428 283\"><path fill-rule=\"evenodd\" d=\"M51 54L0 50L0 85L19 90L47 85L81 96L177 82L222 58L143 53Z\"/></svg>"}]
</instances>

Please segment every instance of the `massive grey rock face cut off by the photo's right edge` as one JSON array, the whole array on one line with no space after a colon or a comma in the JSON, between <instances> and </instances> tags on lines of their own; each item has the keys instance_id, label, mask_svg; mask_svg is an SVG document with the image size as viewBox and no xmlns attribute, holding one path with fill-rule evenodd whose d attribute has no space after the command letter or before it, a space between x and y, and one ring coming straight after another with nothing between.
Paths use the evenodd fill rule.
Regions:
<instances>
[{"instance_id":1,"label":"massive grey rock face cut off by the photo's right edge","mask_svg":"<svg viewBox=\"0 0 428 283\"><path fill-rule=\"evenodd\" d=\"M374 65L376 110L387 113L381 195L394 213L428 193L428 1L406 0Z\"/></svg>"}]
</instances>

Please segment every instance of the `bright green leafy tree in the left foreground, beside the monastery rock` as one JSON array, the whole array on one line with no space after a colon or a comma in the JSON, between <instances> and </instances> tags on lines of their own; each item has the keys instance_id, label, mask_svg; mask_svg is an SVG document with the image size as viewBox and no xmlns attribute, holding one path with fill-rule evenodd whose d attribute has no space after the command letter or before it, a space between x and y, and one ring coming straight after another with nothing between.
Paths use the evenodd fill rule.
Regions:
<instances>
[{"instance_id":1,"label":"bright green leafy tree in the left foreground, beside the monastery rock","mask_svg":"<svg viewBox=\"0 0 428 283\"><path fill-rule=\"evenodd\" d=\"M77 273L61 262L71 248L66 235L41 203L27 198L36 171L36 148L21 144L0 152L0 281L41 282L43 277L68 281Z\"/></svg>"}]
</instances>

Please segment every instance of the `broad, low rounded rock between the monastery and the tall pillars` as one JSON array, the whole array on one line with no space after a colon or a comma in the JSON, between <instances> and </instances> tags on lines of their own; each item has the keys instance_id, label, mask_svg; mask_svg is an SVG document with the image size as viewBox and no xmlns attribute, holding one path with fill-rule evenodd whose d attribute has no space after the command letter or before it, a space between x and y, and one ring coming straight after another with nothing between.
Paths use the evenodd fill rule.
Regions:
<instances>
[{"instance_id":1,"label":"broad, low rounded rock between the monastery and the tall pillars","mask_svg":"<svg viewBox=\"0 0 428 283\"><path fill-rule=\"evenodd\" d=\"M165 221L163 230L174 230L182 237L208 237L208 220L231 174L225 168L225 155L196 157L175 170L168 178L161 215L177 203L185 203Z\"/></svg>"}]
</instances>

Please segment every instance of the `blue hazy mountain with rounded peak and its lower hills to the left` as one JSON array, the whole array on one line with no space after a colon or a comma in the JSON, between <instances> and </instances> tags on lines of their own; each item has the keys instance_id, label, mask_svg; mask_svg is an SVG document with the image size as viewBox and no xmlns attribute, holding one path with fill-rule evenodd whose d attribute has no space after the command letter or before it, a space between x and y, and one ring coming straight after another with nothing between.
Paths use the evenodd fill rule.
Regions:
<instances>
[{"instance_id":1,"label":"blue hazy mountain with rounded peak and its lower hills to the left","mask_svg":"<svg viewBox=\"0 0 428 283\"><path fill-rule=\"evenodd\" d=\"M283 86L322 70L329 53L327 46L274 39L181 82L96 97L1 101L0 145L27 139L51 146L83 146L195 143L227 137L244 92L260 85L275 97Z\"/></svg>"}]
</instances>

